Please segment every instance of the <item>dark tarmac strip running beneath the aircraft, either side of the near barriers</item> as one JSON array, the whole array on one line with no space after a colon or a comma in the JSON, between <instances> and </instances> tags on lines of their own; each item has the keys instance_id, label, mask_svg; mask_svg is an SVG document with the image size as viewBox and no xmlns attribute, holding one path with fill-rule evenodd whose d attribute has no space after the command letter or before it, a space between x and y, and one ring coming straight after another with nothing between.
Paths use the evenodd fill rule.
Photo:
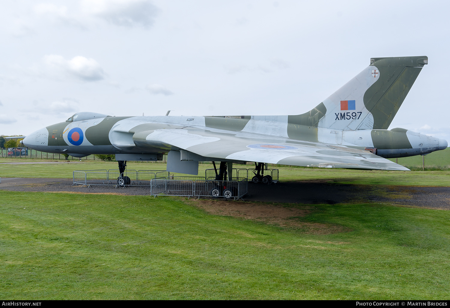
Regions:
<instances>
[{"instance_id":1,"label":"dark tarmac strip running beneath the aircraft, either side of the near barriers","mask_svg":"<svg viewBox=\"0 0 450 308\"><path fill-rule=\"evenodd\" d=\"M150 186L73 185L73 179L1 178L1 190L106 193L111 195L151 195ZM328 180L282 182L276 185L248 183L245 201L276 204L359 204L382 203L394 206L450 210L450 187L405 185L330 184ZM250 215L248 213L247 215ZM293 217L296 217L292 213ZM240 216L244 217L244 215ZM250 219L250 218L247 218Z\"/></svg>"}]
</instances>

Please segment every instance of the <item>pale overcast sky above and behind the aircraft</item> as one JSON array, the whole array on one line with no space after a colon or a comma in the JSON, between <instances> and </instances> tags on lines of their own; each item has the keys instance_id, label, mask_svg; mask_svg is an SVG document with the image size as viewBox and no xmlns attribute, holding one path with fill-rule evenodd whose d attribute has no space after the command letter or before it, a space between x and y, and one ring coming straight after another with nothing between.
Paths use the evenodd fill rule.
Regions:
<instances>
[{"instance_id":1,"label":"pale overcast sky above and behind the aircraft","mask_svg":"<svg viewBox=\"0 0 450 308\"><path fill-rule=\"evenodd\" d=\"M309 111L371 57L427 55L390 128L450 140L448 1L2 0L0 134L78 111Z\"/></svg>"}]
</instances>

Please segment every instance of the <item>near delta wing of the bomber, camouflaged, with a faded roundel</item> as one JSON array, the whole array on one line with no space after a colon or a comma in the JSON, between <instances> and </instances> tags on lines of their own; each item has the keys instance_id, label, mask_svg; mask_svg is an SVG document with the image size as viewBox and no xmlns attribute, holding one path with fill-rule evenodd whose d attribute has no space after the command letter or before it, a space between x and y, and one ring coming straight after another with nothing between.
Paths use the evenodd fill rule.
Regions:
<instances>
[{"instance_id":1,"label":"near delta wing of the bomber, camouflaged, with a faded roundel","mask_svg":"<svg viewBox=\"0 0 450 308\"><path fill-rule=\"evenodd\" d=\"M206 127L155 130L142 141L172 145L218 160L324 168L409 170L365 150Z\"/></svg>"}]
</instances>

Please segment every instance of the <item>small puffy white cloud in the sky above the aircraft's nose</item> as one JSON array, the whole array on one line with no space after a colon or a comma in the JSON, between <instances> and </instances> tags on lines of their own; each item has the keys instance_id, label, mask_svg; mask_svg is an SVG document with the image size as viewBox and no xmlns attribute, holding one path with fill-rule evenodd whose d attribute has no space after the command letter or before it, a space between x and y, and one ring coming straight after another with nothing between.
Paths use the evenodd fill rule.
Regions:
<instances>
[{"instance_id":1,"label":"small puffy white cloud in the sky above the aircraft's nose","mask_svg":"<svg viewBox=\"0 0 450 308\"><path fill-rule=\"evenodd\" d=\"M44 57L44 64L47 72L59 77L63 75L90 82L104 79L105 76L103 68L97 61L82 56L66 60L63 56L50 54Z\"/></svg>"}]
</instances>

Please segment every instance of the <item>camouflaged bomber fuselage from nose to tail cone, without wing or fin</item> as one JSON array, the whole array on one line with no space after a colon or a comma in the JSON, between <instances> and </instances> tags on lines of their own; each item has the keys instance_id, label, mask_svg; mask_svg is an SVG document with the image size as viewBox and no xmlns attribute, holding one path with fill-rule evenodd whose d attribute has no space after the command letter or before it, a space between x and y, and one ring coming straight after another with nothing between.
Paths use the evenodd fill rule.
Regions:
<instances>
[{"instance_id":1,"label":"camouflaged bomber fuselage from nose to tail cone, without wing or fin","mask_svg":"<svg viewBox=\"0 0 450 308\"><path fill-rule=\"evenodd\" d=\"M445 149L447 141L414 131L357 129L333 130L291 123L290 116L187 117L138 116L111 117L94 113L77 119L69 118L35 131L22 141L23 145L48 153L83 157L88 154L165 154L175 149L162 143L143 143L143 133L162 129L198 127L209 131L255 134L262 139L308 141L341 145L357 149L375 148L383 158L428 154ZM91 115L90 115L91 114ZM75 115L74 115L75 116ZM71 120L72 119L72 120Z\"/></svg>"}]
</instances>

